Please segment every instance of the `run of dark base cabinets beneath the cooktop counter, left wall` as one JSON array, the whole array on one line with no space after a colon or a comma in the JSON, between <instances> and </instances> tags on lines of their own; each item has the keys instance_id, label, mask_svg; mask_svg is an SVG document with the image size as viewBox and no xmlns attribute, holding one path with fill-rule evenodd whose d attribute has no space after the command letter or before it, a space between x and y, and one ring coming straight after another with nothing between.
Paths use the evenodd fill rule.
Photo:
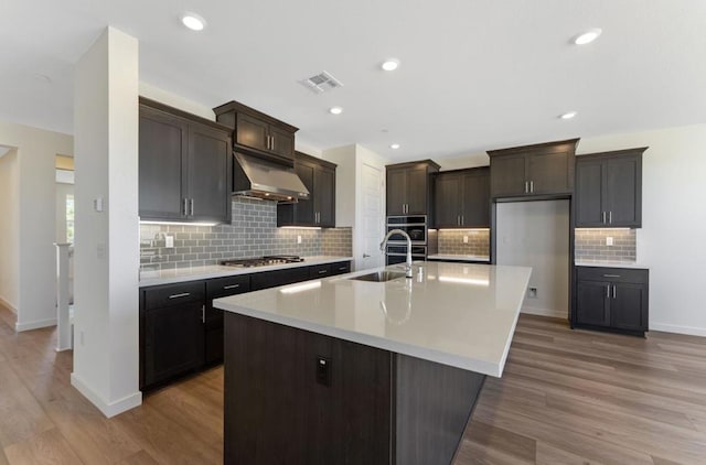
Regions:
<instances>
[{"instance_id":1,"label":"run of dark base cabinets beneath the cooktop counter, left wall","mask_svg":"<svg viewBox=\"0 0 706 465\"><path fill-rule=\"evenodd\" d=\"M223 311L214 299L350 271L351 262L342 261L141 289L140 389L223 361Z\"/></svg>"}]
</instances>

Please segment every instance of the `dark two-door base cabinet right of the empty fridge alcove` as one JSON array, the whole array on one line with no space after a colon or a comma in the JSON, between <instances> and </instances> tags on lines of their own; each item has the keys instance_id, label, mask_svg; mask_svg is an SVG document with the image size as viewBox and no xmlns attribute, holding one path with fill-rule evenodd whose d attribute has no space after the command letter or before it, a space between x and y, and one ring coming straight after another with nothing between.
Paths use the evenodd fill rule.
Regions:
<instances>
[{"instance_id":1,"label":"dark two-door base cabinet right of the empty fridge alcove","mask_svg":"<svg viewBox=\"0 0 706 465\"><path fill-rule=\"evenodd\" d=\"M577 267L571 324L644 336L648 292L648 270Z\"/></svg>"}]
</instances>

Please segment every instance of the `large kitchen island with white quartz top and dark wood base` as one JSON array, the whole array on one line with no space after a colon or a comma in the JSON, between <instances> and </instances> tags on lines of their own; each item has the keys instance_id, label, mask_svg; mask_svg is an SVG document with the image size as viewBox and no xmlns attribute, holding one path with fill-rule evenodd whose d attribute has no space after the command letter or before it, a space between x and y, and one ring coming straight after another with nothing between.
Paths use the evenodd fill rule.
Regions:
<instances>
[{"instance_id":1,"label":"large kitchen island with white quartz top and dark wood base","mask_svg":"<svg viewBox=\"0 0 706 465\"><path fill-rule=\"evenodd\" d=\"M398 266L388 271L399 271ZM448 464L531 269L420 262L218 299L225 463Z\"/></svg>"}]
</instances>

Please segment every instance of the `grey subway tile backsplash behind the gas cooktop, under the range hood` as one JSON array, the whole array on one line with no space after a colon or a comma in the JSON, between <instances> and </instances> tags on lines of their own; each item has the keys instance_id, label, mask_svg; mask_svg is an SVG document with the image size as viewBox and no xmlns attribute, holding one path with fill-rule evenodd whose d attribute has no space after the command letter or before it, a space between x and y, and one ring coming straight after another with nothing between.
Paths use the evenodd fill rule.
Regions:
<instances>
[{"instance_id":1,"label":"grey subway tile backsplash behind the gas cooktop, under the range hood","mask_svg":"<svg viewBox=\"0 0 706 465\"><path fill-rule=\"evenodd\" d=\"M229 225L140 225L140 268L170 269L217 264L227 258L265 255L351 256L351 228L278 228L277 205L233 198ZM173 248L167 248L172 236ZM301 244L298 244L298 236Z\"/></svg>"}]
</instances>

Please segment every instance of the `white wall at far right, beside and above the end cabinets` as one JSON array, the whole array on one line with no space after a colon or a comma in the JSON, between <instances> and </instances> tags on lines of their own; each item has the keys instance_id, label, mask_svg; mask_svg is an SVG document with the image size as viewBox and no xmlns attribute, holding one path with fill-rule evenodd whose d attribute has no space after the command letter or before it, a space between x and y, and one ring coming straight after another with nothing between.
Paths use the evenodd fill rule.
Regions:
<instances>
[{"instance_id":1,"label":"white wall at far right, beside and above the end cabinets","mask_svg":"<svg viewBox=\"0 0 706 465\"><path fill-rule=\"evenodd\" d=\"M650 268L650 328L706 336L706 125L581 139L578 153L649 145L638 261Z\"/></svg>"}]
</instances>

